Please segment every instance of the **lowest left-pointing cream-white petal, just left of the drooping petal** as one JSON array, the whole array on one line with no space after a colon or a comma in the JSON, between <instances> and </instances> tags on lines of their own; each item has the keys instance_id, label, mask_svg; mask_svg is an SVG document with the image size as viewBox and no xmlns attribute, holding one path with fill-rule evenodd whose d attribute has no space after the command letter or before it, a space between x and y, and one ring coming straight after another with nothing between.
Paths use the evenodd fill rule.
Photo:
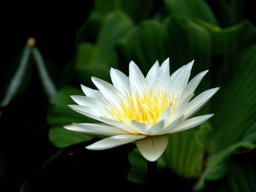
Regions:
<instances>
[{"instance_id":1,"label":"lowest left-pointing cream-white petal, just left of the drooping petal","mask_svg":"<svg viewBox=\"0 0 256 192\"><path fill-rule=\"evenodd\" d=\"M146 136L136 135L136 134L125 134L125 135L116 135L113 137L107 137L105 139L99 140L99 142L94 142L94 144L86 147L88 150L106 150L120 145L133 142L137 139L143 139Z\"/></svg>"}]
</instances>

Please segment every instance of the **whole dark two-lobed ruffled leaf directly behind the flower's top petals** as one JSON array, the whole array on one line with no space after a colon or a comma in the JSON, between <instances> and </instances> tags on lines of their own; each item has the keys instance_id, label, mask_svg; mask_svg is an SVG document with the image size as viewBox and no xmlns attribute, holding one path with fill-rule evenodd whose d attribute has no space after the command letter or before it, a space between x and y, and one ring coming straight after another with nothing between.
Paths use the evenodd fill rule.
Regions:
<instances>
[{"instance_id":1,"label":"whole dark two-lobed ruffled leaf directly behind the flower's top petals","mask_svg":"<svg viewBox=\"0 0 256 192\"><path fill-rule=\"evenodd\" d=\"M195 59L192 76L210 69L211 37L199 24L181 18L167 18L165 23L157 20L145 21L133 28L117 47L121 68L128 70L129 61L135 61L146 74L159 60L170 58L170 70ZM198 91L209 87L207 75Z\"/></svg>"}]
</instances>

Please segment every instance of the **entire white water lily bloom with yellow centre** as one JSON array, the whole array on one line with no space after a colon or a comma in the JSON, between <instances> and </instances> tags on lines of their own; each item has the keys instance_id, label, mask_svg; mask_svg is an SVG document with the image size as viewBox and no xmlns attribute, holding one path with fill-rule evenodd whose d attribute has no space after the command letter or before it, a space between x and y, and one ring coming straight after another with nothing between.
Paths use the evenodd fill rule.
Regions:
<instances>
[{"instance_id":1,"label":"entire white water lily bloom with yellow centre","mask_svg":"<svg viewBox=\"0 0 256 192\"><path fill-rule=\"evenodd\" d=\"M86 96L72 96L78 105L69 107L102 123L73 123L64 128L108 136L87 146L89 150L105 150L135 141L144 158L157 161L167 147L166 134L193 128L213 116L191 118L219 90L211 88L192 99L197 85L208 72L200 72L189 81L193 63L181 66L170 75L167 58L161 66L157 61L144 77L131 61L129 77L110 69L113 85L91 77L99 90L81 85Z\"/></svg>"}]
</instances>

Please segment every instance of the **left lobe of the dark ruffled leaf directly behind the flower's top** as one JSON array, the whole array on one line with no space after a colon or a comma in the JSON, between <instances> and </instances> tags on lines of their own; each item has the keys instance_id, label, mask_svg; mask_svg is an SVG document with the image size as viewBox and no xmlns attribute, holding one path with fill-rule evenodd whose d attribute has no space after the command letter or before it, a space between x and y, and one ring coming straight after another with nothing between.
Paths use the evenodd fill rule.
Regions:
<instances>
[{"instance_id":1,"label":"left lobe of the dark ruffled leaf directly behind the flower's top","mask_svg":"<svg viewBox=\"0 0 256 192\"><path fill-rule=\"evenodd\" d=\"M121 68L128 69L127 66L132 60L145 74L157 59L164 61L168 57L168 42L170 39L165 25L156 20L144 21L118 44Z\"/></svg>"}]
</instances>

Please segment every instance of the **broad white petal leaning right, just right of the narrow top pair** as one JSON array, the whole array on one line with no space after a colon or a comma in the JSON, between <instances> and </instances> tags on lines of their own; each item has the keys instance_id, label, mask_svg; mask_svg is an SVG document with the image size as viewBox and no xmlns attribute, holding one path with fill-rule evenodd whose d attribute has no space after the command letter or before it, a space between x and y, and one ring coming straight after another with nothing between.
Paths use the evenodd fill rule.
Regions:
<instances>
[{"instance_id":1,"label":"broad white petal leaning right, just right of the narrow top pair","mask_svg":"<svg viewBox=\"0 0 256 192\"><path fill-rule=\"evenodd\" d=\"M181 68L176 70L176 72L170 76L169 94L171 96L178 98L184 91L184 88L187 86L187 82L189 81L193 64L194 60L187 65L181 66Z\"/></svg>"}]
</instances>

